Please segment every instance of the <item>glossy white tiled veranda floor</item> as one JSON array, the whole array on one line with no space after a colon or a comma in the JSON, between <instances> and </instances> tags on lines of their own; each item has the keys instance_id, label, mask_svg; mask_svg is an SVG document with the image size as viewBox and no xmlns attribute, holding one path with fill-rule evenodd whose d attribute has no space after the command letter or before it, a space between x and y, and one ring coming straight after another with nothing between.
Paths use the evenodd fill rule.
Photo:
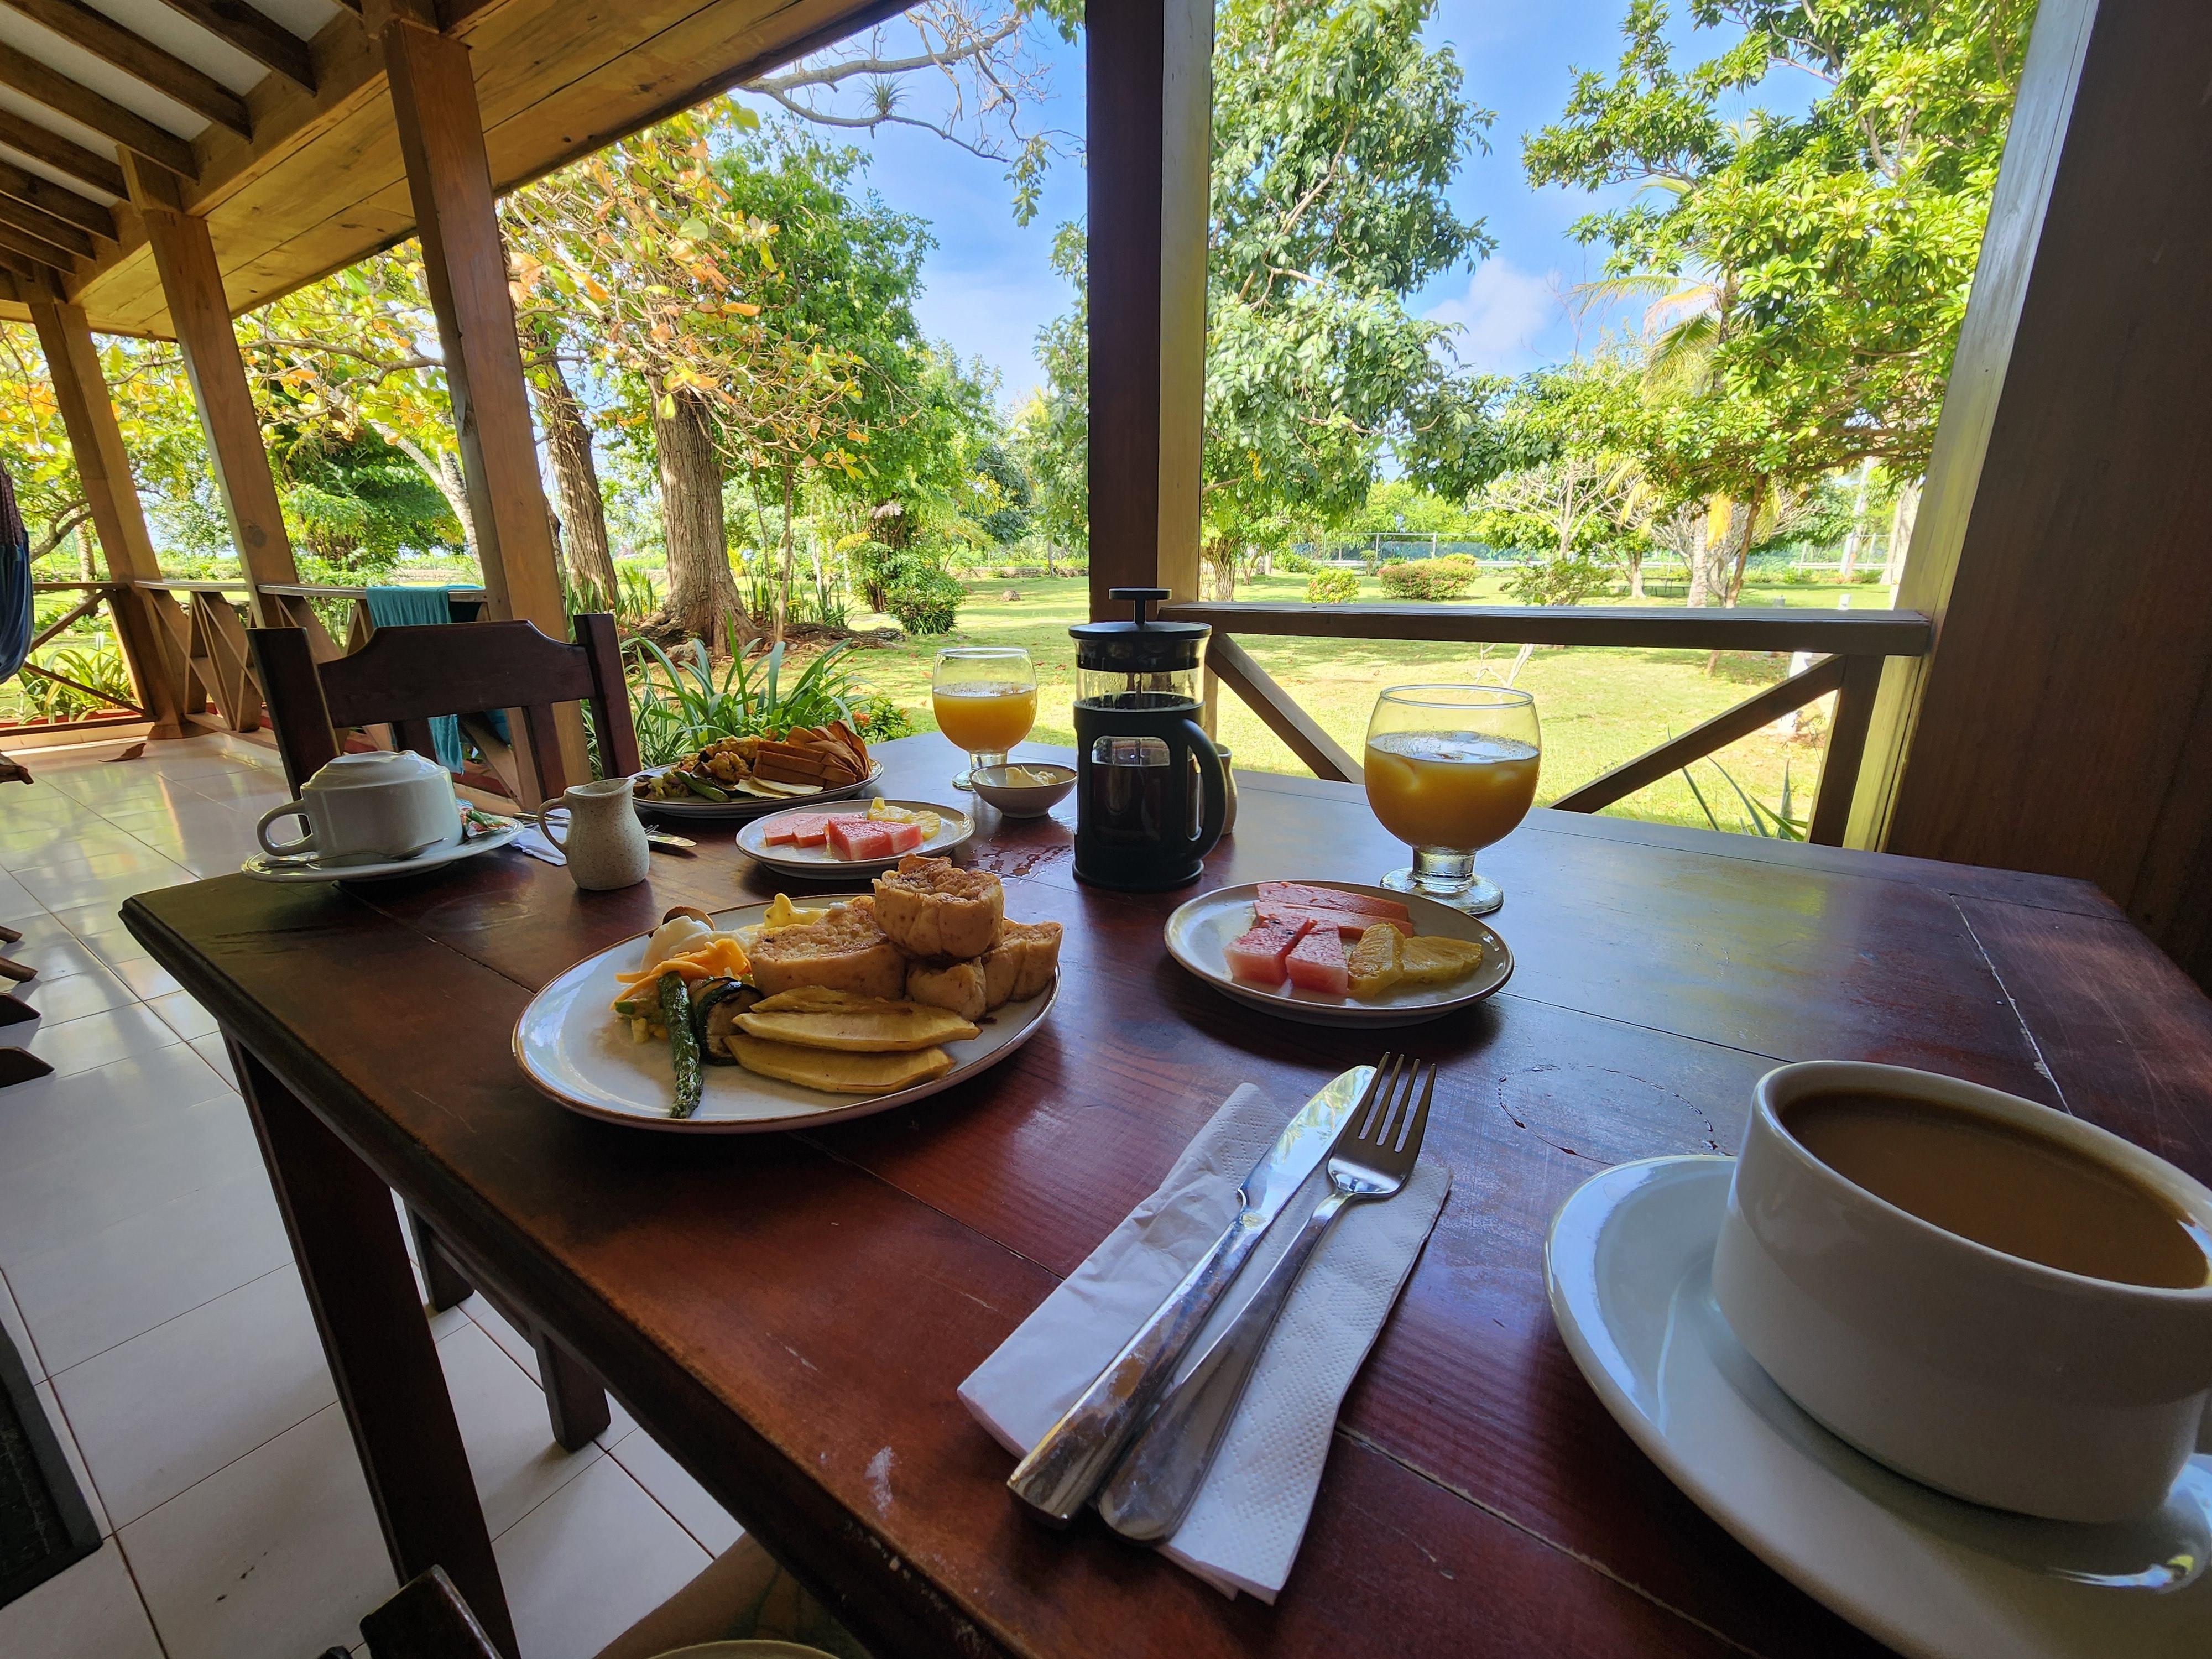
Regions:
<instances>
[{"instance_id":1,"label":"glossy white tiled veranda floor","mask_svg":"<svg viewBox=\"0 0 2212 1659\"><path fill-rule=\"evenodd\" d=\"M38 969L0 1091L0 1325L106 1535L0 1608L7 1659L307 1659L392 1593L367 1486L215 1022L122 929L135 891L215 876L285 796L219 737L33 750L0 785L0 953ZM13 1026L0 1042L20 1042ZM482 1298L431 1318L524 1659L586 1659L737 1522L615 1407L546 1431L529 1345Z\"/></svg>"}]
</instances>

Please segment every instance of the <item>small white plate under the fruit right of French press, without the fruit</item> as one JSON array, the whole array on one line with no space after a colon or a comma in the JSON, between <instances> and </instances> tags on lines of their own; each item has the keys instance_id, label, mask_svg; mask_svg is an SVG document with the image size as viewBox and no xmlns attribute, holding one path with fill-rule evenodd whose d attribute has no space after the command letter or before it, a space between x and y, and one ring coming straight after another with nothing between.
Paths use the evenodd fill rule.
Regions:
<instances>
[{"instance_id":1,"label":"small white plate under the fruit right of French press, without the fruit","mask_svg":"<svg viewBox=\"0 0 2212 1659\"><path fill-rule=\"evenodd\" d=\"M1451 984L1407 984L1387 991L1371 1002L1356 998L1332 998L1323 991L1301 991L1285 982L1274 991L1245 984L1230 973L1228 947L1252 929L1252 907L1259 902L1259 883L1243 887L1217 887L1181 905L1168 918L1168 956L1197 973L1221 995L1243 1002L1248 1009L1265 1009L1285 1020L1301 1020L1312 1026L1418 1026L1440 1020L1453 1009L1469 1009L1491 995L1513 978L1513 951L1498 938L1498 931L1462 909L1438 905L1418 894L1391 894L1383 887L1363 887L1352 880L1307 880L1301 887L1327 887L1338 894L1365 894L1405 905L1413 914L1413 931L1429 938L1464 938L1482 947L1482 962L1473 973Z\"/></svg>"}]
</instances>

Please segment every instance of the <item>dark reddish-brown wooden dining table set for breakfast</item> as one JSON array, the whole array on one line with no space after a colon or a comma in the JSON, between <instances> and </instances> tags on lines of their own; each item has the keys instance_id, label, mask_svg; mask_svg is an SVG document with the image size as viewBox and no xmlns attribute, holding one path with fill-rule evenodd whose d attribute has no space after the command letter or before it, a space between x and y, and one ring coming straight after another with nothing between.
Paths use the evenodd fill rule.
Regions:
<instances>
[{"instance_id":1,"label":"dark reddish-brown wooden dining table set for breakfast","mask_svg":"<svg viewBox=\"0 0 2212 1659\"><path fill-rule=\"evenodd\" d=\"M964 799L942 739L878 754L885 794ZM1356 787L1239 783L1201 887L1405 863ZM2086 883L1540 810L1480 858L1511 982L1360 1033L1179 969L1161 925L1201 887L1079 885L1073 801L973 812L960 860L1004 880L1009 918L1066 927L1057 1006L993 1071L790 1135L593 1121L511 1048L546 980L670 905L830 891L728 830L686 827L697 854L611 894L502 849L124 905L223 1026L396 1573L442 1564L509 1652L387 1188L880 1659L1823 1659L1887 1650L1708 1520L1577 1374L1544 1296L1559 1201L1610 1164L1734 1150L1759 1075L1814 1057L2006 1088L2212 1179L2212 1004ZM1442 1066L1429 1150L1453 1188L1343 1402L1283 1595L1228 1599L1095 1517L1029 1520L960 1380L1232 1088L1287 1117L1385 1044Z\"/></svg>"}]
</instances>

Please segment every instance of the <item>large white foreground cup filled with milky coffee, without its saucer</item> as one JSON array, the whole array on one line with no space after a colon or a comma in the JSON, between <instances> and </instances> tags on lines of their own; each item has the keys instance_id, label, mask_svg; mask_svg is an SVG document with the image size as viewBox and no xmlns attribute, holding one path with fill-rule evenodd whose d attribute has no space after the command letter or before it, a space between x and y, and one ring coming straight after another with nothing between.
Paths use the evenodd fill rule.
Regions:
<instances>
[{"instance_id":1,"label":"large white foreground cup filled with milky coffee, without its saucer","mask_svg":"<svg viewBox=\"0 0 2212 1659\"><path fill-rule=\"evenodd\" d=\"M1809 1062L1752 1095L1712 1290L1767 1376L1867 1455L1978 1504L2112 1522L2212 1451L2208 1243L2212 1192L2117 1135L1953 1077Z\"/></svg>"}]
</instances>

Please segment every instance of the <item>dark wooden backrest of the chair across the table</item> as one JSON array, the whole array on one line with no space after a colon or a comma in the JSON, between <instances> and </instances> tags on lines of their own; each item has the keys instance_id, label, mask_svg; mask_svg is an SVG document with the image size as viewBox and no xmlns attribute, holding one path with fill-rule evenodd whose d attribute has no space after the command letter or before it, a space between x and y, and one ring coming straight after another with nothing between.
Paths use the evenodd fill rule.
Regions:
<instances>
[{"instance_id":1,"label":"dark wooden backrest of the chair across the table","mask_svg":"<svg viewBox=\"0 0 2212 1659\"><path fill-rule=\"evenodd\" d=\"M378 628L349 657L314 661L303 628L248 628L254 670L276 728L276 750L296 790L338 754L338 730L392 726L400 748L436 759L436 714L522 710L526 748L546 799L568 787L553 734L553 703L586 703L608 776L637 770L637 728L622 684L615 619L575 619L577 644L549 639L533 622L453 622ZM582 783L582 779L575 779Z\"/></svg>"}]
</instances>

